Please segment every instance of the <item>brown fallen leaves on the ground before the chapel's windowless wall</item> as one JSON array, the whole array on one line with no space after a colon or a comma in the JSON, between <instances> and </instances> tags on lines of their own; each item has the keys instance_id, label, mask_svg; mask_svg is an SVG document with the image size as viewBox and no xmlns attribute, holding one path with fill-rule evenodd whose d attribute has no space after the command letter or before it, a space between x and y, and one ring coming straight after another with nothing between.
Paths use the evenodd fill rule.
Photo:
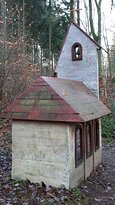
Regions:
<instances>
[{"instance_id":1,"label":"brown fallen leaves on the ground before the chapel's windowless wall","mask_svg":"<svg viewBox=\"0 0 115 205\"><path fill-rule=\"evenodd\" d=\"M56 189L44 183L40 185L29 180L12 180L11 158L10 150L0 151L0 205L77 204L77 197L73 197L72 190Z\"/></svg>"}]
</instances>

